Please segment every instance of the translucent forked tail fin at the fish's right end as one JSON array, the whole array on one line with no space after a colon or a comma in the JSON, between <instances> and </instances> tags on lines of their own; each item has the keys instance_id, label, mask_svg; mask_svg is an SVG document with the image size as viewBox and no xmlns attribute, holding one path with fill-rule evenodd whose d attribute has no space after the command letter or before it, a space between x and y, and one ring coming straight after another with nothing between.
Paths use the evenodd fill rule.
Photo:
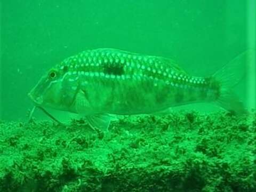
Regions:
<instances>
[{"instance_id":1,"label":"translucent forked tail fin at the fish's right end","mask_svg":"<svg viewBox=\"0 0 256 192\"><path fill-rule=\"evenodd\" d=\"M245 51L213 75L213 78L220 82L220 97L217 103L222 108L235 111L237 114L246 112L242 101L233 92L233 88L245 77L246 68L253 55L255 50Z\"/></svg>"}]
</instances>

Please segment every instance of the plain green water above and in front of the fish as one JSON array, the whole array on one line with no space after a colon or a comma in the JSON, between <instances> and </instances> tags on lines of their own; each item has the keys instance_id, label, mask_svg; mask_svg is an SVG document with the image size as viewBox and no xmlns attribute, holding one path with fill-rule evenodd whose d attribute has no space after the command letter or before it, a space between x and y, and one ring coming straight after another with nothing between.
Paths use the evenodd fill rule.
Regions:
<instances>
[{"instance_id":1,"label":"plain green water above and in front of the fish","mask_svg":"<svg viewBox=\"0 0 256 192\"><path fill-rule=\"evenodd\" d=\"M23 119L49 68L112 47L177 60L213 74L249 46L245 1L2 1L1 116ZM239 95L246 100L246 86ZM208 106L207 106L208 107Z\"/></svg>"}]
</instances>

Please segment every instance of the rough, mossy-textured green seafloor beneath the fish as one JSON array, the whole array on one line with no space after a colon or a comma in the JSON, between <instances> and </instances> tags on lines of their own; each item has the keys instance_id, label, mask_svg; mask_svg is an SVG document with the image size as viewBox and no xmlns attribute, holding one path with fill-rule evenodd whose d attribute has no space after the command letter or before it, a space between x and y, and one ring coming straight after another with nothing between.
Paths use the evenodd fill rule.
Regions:
<instances>
[{"instance_id":1,"label":"rough, mossy-textured green seafloor beneath the fish","mask_svg":"<svg viewBox=\"0 0 256 192\"><path fill-rule=\"evenodd\" d=\"M0 191L256 191L256 114L0 122Z\"/></svg>"}]
</instances>

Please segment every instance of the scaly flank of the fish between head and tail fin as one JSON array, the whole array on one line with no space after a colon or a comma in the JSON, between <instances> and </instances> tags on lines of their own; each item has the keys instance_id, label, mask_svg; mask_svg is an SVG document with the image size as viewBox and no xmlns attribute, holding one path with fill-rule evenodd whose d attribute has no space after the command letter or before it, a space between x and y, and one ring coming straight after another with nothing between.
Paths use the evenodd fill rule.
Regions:
<instances>
[{"instance_id":1,"label":"scaly flank of the fish between head and tail fin","mask_svg":"<svg viewBox=\"0 0 256 192\"><path fill-rule=\"evenodd\" d=\"M70 69L66 73L70 75L66 81L73 81L71 73L75 71L79 81L73 87L91 93L88 100L94 110L151 113L182 102L207 99L204 78L189 76L173 60L162 57L98 49L67 58L57 68L67 67ZM95 86L100 87L101 98ZM192 89L196 94L190 94Z\"/></svg>"}]
</instances>

